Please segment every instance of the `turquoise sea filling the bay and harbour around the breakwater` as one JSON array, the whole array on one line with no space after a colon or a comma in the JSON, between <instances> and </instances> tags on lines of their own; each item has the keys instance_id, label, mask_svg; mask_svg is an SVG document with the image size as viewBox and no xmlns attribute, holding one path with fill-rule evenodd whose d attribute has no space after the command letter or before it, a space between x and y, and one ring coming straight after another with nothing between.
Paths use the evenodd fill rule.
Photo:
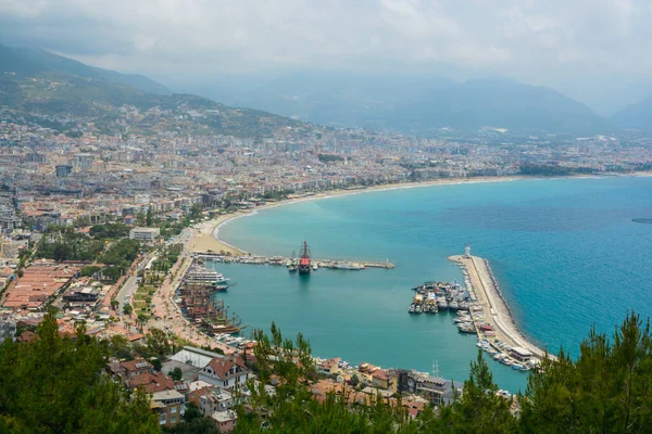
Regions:
<instances>
[{"instance_id":1,"label":"turquoise sea filling the bay and harbour around the breakwater","mask_svg":"<svg viewBox=\"0 0 652 434\"><path fill-rule=\"evenodd\" d=\"M393 270L216 265L236 282L224 295L251 327L301 331L313 354L352 365L414 368L464 381L477 356L451 315L411 316L412 286L461 280L447 260L469 243L489 259L522 330L551 352L577 354L592 324L613 332L627 310L652 315L652 178L461 183L365 192L264 209L220 237L246 251L289 256L306 239L317 258L389 258ZM503 388L527 374L490 360Z\"/></svg>"}]
</instances>

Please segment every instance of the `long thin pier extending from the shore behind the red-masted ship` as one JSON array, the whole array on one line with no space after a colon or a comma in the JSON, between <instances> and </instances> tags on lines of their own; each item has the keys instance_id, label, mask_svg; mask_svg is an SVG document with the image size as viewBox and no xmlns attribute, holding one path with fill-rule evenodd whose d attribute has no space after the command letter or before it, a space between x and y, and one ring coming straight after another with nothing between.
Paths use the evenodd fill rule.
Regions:
<instances>
[{"instance_id":1,"label":"long thin pier extending from the shore behind the red-masted ship","mask_svg":"<svg viewBox=\"0 0 652 434\"><path fill-rule=\"evenodd\" d=\"M252 265L271 265L286 267L297 258L288 258L284 256L258 256L258 255L224 255L216 252L193 252L192 256L199 260L211 260L225 264L252 264ZM316 264L318 268L329 268L336 270L364 270L365 268L385 268L392 269L396 265L389 259L384 261L374 260L340 260L340 259L312 259L312 264Z\"/></svg>"}]
</instances>

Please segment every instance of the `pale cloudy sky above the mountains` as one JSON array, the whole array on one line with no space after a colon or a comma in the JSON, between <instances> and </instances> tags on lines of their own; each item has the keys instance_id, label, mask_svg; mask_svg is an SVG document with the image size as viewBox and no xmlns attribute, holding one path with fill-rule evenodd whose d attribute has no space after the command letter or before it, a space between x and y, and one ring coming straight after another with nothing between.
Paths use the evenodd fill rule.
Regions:
<instances>
[{"instance_id":1,"label":"pale cloudy sky above the mountains","mask_svg":"<svg viewBox=\"0 0 652 434\"><path fill-rule=\"evenodd\" d=\"M278 71L501 76L602 114L652 91L643 0L0 0L0 41L164 84Z\"/></svg>"}]
</instances>

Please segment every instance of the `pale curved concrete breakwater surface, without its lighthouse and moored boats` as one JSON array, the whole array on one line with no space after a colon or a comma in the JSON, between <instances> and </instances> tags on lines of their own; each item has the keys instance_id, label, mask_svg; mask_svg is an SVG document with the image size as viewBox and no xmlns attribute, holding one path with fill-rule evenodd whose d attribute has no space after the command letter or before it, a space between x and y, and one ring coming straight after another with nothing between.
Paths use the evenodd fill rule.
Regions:
<instances>
[{"instance_id":1,"label":"pale curved concrete breakwater surface, without its lighthouse and moored boats","mask_svg":"<svg viewBox=\"0 0 652 434\"><path fill-rule=\"evenodd\" d=\"M539 358L546 357L546 352L529 342L518 330L512 312L500 294L500 290L491 275L487 260L478 256L450 256L449 260L460 264L468 273L471 285L482 306L487 319L491 318L496 337L503 343L531 352ZM549 355L548 357L554 358Z\"/></svg>"}]
</instances>

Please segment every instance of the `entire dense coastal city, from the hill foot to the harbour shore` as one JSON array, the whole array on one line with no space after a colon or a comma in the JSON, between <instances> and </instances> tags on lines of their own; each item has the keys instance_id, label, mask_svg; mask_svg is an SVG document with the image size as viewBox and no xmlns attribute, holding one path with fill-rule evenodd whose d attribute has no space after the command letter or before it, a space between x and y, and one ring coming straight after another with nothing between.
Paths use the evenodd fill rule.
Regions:
<instances>
[{"instance_id":1,"label":"entire dense coastal city, from the hill foot to the harbour shore","mask_svg":"<svg viewBox=\"0 0 652 434\"><path fill-rule=\"evenodd\" d=\"M112 375L151 395L161 425L180 423L192 405L222 432L234 429L234 410L250 394L254 341L226 344L203 335L173 307L178 276L192 263L188 243L202 233L201 221L337 190L613 176L648 170L652 162L652 141L640 137L524 138L485 130L468 140L452 131L427 139L310 126L247 138L170 131L158 108L121 112L116 123L125 132L113 136L71 116L48 117L74 125L74 133L61 133L40 126L37 114L26 120L2 112L2 336L34 339L54 307L61 333L74 335L84 322L85 333L110 340ZM147 135L127 132L129 123L145 118L158 127ZM203 225L204 232L214 227ZM159 341L166 349L152 357L152 342ZM186 363L190 359L197 361ZM313 387L322 399L341 382L360 401L401 391L413 418L429 403L453 398L450 382L427 373L315 359L316 373L322 380ZM274 394L272 384L265 387Z\"/></svg>"}]
</instances>

